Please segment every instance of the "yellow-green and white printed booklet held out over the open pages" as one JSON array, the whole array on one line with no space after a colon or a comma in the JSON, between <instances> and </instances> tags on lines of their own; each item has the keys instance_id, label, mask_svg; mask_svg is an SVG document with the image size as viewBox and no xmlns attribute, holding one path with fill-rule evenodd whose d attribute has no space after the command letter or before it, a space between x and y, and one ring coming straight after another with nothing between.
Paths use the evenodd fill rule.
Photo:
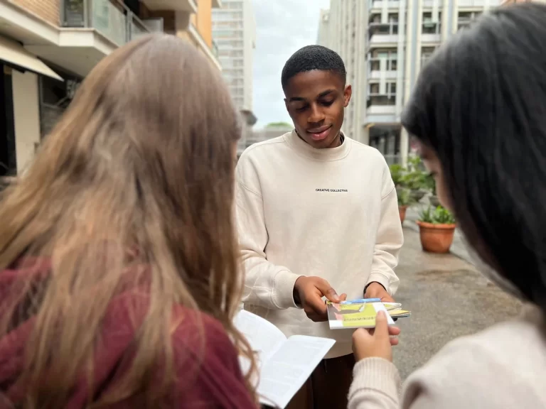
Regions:
<instances>
[{"instance_id":1,"label":"yellow-green and white printed booklet held out over the open pages","mask_svg":"<svg viewBox=\"0 0 546 409\"><path fill-rule=\"evenodd\" d=\"M380 300L328 301L326 305L328 305L330 329L375 328L375 317L380 311L387 314L388 325L395 324L387 308Z\"/></svg>"}]
</instances>

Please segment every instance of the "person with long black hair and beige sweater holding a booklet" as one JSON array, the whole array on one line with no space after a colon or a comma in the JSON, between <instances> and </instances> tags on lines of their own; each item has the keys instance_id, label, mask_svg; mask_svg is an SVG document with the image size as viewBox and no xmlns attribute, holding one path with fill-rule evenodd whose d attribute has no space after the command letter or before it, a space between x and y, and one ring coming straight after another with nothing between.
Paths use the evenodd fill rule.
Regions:
<instances>
[{"instance_id":1,"label":"person with long black hair and beige sweater holding a booklet","mask_svg":"<svg viewBox=\"0 0 546 409\"><path fill-rule=\"evenodd\" d=\"M349 408L546 408L546 6L496 9L457 33L423 68L402 124L478 265L526 305L448 344L401 397L385 317L358 329Z\"/></svg>"}]
</instances>

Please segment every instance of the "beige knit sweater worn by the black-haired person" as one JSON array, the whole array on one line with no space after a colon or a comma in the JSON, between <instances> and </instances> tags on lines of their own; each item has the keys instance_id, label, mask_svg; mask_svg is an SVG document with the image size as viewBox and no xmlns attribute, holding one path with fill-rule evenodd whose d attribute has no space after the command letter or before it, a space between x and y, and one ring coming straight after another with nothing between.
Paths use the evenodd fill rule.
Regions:
<instances>
[{"instance_id":1,"label":"beige knit sweater worn by the black-haired person","mask_svg":"<svg viewBox=\"0 0 546 409\"><path fill-rule=\"evenodd\" d=\"M535 307L454 340L407 379L381 358L358 362L349 409L546 408L546 332Z\"/></svg>"}]
</instances>

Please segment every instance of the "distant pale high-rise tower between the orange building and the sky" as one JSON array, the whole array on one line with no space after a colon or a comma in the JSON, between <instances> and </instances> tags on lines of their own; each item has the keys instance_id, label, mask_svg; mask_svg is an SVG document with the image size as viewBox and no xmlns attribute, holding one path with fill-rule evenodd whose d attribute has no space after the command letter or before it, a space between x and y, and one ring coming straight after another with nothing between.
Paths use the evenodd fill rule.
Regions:
<instances>
[{"instance_id":1,"label":"distant pale high-rise tower between the orange building and the sky","mask_svg":"<svg viewBox=\"0 0 546 409\"><path fill-rule=\"evenodd\" d=\"M257 121L252 112L252 67L256 48L252 0L223 0L222 9L213 11L213 38L218 45L225 82L241 113L239 151L242 151Z\"/></svg>"}]
</instances>

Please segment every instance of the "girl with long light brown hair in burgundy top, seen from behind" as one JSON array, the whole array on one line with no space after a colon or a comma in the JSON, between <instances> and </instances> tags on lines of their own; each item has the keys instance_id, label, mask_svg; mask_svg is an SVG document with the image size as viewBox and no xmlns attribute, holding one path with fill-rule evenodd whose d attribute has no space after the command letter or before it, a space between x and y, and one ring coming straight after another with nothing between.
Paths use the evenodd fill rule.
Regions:
<instances>
[{"instance_id":1,"label":"girl with long light brown hair in burgundy top, seen from behind","mask_svg":"<svg viewBox=\"0 0 546 409\"><path fill-rule=\"evenodd\" d=\"M181 39L92 70L0 202L1 408L257 406L232 325L239 136Z\"/></svg>"}]
</instances>

